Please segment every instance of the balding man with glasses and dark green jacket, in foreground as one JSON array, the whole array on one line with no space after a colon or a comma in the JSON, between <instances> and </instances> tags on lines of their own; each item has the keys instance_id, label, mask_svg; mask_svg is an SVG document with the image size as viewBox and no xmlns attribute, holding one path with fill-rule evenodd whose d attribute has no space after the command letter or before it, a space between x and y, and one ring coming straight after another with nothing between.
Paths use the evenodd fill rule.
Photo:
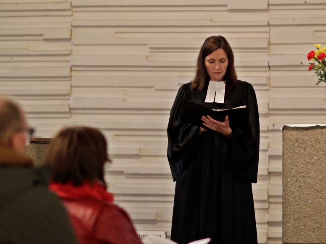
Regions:
<instances>
[{"instance_id":1,"label":"balding man with glasses and dark green jacket, in foreground","mask_svg":"<svg viewBox=\"0 0 326 244\"><path fill-rule=\"evenodd\" d=\"M32 132L22 109L0 97L0 243L77 244L47 169L25 155Z\"/></svg>"}]
</instances>

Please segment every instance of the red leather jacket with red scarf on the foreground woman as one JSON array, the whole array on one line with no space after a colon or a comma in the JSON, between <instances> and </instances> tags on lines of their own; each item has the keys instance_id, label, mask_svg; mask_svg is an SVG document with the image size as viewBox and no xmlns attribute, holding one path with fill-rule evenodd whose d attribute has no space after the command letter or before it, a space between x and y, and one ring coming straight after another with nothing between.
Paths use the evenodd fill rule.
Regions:
<instances>
[{"instance_id":1,"label":"red leather jacket with red scarf on the foreground woman","mask_svg":"<svg viewBox=\"0 0 326 244\"><path fill-rule=\"evenodd\" d=\"M99 184L50 183L66 206L81 244L141 244L126 211Z\"/></svg>"}]
</instances>

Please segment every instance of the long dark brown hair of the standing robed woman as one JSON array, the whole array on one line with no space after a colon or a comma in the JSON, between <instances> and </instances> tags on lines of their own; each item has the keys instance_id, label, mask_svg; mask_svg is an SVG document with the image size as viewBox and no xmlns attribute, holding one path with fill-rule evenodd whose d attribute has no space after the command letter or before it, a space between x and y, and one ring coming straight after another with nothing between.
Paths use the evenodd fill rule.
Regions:
<instances>
[{"instance_id":1,"label":"long dark brown hair of the standing robed woman","mask_svg":"<svg viewBox=\"0 0 326 244\"><path fill-rule=\"evenodd\" d=\"M234 67L234 55L230 44L223 36L210 36L206 38L201 46L198 59L195 78L191 84L191 89L200 93L205 85L208 84L210 77L206 71L205 57L214 52L216 49L223 49L228 57L229 64L226 69L224 80L226 81L226 89L230 92L231 88L237 83L237 75Z\"/></svg>"}]
</instances>

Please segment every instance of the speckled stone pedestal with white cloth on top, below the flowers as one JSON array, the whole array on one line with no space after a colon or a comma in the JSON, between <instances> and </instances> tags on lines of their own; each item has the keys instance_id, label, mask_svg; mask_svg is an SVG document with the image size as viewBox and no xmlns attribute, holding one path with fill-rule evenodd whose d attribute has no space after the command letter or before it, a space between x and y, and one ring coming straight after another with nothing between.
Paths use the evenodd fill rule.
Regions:
<instances>
[{"instance_id":1,"label":"speckled stone pedestal with white cloth on top, below the flowers","mask_svg":"<svg viewBox=\"0 0 326 244\"><path fill-rule=\"evenodd\" d=\"M326 244L326 126L283 126L284 244Z\"/></svg>"}]
</instances>

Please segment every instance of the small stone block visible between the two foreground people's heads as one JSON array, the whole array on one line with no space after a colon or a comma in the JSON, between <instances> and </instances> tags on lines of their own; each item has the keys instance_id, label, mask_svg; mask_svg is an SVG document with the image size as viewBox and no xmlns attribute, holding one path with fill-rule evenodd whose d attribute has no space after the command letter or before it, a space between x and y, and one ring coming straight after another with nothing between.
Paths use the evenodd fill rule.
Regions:
<instances>
[{"instance_id":1,"label":"small stone block visible between the two foreground people's heads","mask_svg":"<svg viewBox=\"0 0 326 244\"><path fill-rule=\"evenodd\" d=\"M50 141L50 138L32 138L26 148L27 156L32 158L37 166L42 165L43 156Z\"/></svg>"}]
</instances>

